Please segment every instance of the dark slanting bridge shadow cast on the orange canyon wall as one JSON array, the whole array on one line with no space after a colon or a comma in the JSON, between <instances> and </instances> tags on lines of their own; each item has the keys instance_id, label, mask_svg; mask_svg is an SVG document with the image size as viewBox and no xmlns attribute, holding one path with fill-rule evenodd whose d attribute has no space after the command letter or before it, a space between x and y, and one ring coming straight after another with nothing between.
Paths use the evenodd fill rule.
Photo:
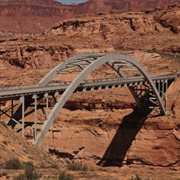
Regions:
<instances>
[{"instance_id":1,"label":"dark slanting bridge shadow cast on the orange canyon wall","mask_svg":"<svg viewBox=\"0 0 180 180\"><path fill-rule=\"evenodd\" d=\"M124 163L128 164L125 162L126 153L146 119L147 114L139 114L136 110L125 116L103 158L97 165L122 166Z\"/></svg>"}]
</instances>

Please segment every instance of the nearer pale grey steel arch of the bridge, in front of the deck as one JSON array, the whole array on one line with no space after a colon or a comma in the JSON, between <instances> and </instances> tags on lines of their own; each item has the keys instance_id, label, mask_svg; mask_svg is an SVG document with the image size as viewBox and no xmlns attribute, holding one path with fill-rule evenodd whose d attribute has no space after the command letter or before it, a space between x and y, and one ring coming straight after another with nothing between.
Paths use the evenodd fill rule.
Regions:
<instances>
[{"instance_id":1,"label":"nearer pale grey steel arch of the bridge, in front of the deck","mask_svg":"<svg viewBox=\"0 0 180 180\"><path fill-rule=\"evenodd\" d=\"M73 58L72 58L72 60L73 60ZM56 116L59 114L59 112L63 108L64 104L67 102L69 97L73 94L73 92L76 90L76 88L79 86L79 84L84 80L84 78L88 74L90 74L98 66L105 64L105 63L108 63L109 65L112 66L113 63L116 63L118 61L119 62L120 61L126 61L126 62L131 63L133 66L135 66L144 75L145 79L150 84L150 86L151 86L151 88L152 88L152 90L153 90L153 92L157 98L157 101L158 101L159 106L160 106L161 113L165 114L165 109L163 107L163 103L161 102L160 95L159 95L153 81L149 77L146 70L144 70L143 67L140 65L140 63L138 63L132 57L127 56L127 55L122 55L122 54L112 54L112 55L102 56L102 57L98 58L96 61L93 61L91 64L89 64L83 71L81 71L81 73L71 82L69 87L64 91L62 96L59 98L59 100L57 101L57 103L53 107L51 113L48 116L48 119L43 124L42 132L39 134L39 136L37 137L37 140L35 141L35 144L37 146L40 146L42 144L42 141L43 141L45 135L47 134L48 130L50 129L51 125L53 124ZM55 69L58 69L58 67L56 67Z\"/></svg>"}]
</instances>

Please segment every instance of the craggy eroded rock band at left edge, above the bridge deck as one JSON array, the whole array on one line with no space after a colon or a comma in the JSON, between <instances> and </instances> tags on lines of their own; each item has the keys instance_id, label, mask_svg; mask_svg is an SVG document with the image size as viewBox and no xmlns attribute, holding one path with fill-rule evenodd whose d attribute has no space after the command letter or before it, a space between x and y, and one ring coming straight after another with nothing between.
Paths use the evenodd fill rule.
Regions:
<instances>
[{"instance_id":1,"label":"craggy eroded rock band at left edge, above the bridge deck","mask_svg":"<svg viewBox=\"0 0 180 180\"><path fill-rule=\"evenodd\" d=\"M73 51L70 45L35 45L31 42L16 45L14 41L11 47L8 47L8 42L0 47L0 58L21 68L48 68L68 59Z\"/></svg>"}]
</instances>

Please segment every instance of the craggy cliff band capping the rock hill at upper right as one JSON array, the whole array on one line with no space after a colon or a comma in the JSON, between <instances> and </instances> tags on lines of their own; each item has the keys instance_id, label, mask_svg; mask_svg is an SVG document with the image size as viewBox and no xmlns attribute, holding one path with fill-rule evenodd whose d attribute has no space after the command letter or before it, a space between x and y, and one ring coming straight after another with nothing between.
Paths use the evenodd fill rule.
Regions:
<instances>
[{"instance_id":1,"label":"craggy cliff band capping the rock hill at upper right","mask_svg":"<svg viewBox=\"0 0 180 180\"><path fill-rule=\"evenodd\" d=\"M141 35L172 31L178 33L180 6L166 10L102 14L60 22L48 31L50 35L71 35L112 38L113 35L137 32ZM88 31L89 30L89 31Z\"/></svg>"}]
</instances>

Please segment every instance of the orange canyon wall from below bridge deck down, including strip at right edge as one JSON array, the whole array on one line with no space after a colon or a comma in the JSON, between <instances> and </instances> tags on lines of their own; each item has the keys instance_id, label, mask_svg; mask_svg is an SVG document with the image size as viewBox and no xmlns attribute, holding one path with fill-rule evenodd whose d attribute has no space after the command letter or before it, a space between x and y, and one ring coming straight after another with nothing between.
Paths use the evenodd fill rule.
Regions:
<instances>
[{"instance_id":1,"label":"orange canyon wall from below bridge deck down, including strip at right edge","mask_svg":"<svg viewBox=\"0 0 180 180\"><path fill-rule=\"evenodd\" d=\"M137 164L179 170L180 103L176 99L179 83L177 80L168 89L167 116L143 117L134 113L133 98L125 89L83 94L86 104L81 103L81 106L82 94L74 95L56 119L42 147L47 151L55 150L59 157L68 154L64 158L74 162L101 166ZM101 96L110 96L112 106L100 105ZM95 106L88 109L88 102Z\"/></svg>"}]
</instances>

